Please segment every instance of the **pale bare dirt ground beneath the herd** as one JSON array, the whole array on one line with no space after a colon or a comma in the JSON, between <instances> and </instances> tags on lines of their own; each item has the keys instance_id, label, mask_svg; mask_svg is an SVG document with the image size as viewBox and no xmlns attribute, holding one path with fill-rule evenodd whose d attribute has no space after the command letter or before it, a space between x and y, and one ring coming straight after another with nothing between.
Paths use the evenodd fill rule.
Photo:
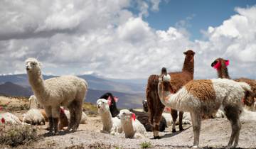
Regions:
<instances>
[{"instance_id":1,"label":"pale bare dirt ground beneath the herd","mask_svg":"<svg viewBox=\"0 0 256 149\"><path fill-rule=\"evenodd\" d=\"M23 111L14 114L21 115ZM254 118L255 119L255 118ZM256 148L256 121L241 118L242 129L238 148ZM171 133L171 127L161 132L161 139L154 140L153 133L147 132L145 138L124 138L124 134L112 136L100 133L102 122L100 116L89 116L86 124L80 124L78 131L64 133L58 136L46 136L46 126L38 127L41 139L30 145L21 145L18 148L141 148L144 142L150 143L151 148L190 148L193 144L191 125L184 125L184 131ZM178 130L178 127L176 128ZM226 118L215 118L202 121L200 148L224 148L228 144L231 126Z\"/></svg>"}]
</instances>

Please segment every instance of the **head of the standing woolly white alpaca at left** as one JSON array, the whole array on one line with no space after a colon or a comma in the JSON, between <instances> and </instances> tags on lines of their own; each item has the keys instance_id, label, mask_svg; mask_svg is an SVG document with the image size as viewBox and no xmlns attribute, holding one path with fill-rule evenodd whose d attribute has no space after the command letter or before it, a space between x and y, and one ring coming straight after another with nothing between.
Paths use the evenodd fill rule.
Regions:
<instances>
[{"instance_id":1,"label":"head of the standing woolly white alpaca at left","mask_svg":"<svg viewBox=\"0 0 256 149\"><path fill-rule=\"evenodd\" d=\"M41 75L41 62L38 62L36 58L28 58L25 62L26 62L26 71L28 74Z\"/></svg>"}]
</instances>

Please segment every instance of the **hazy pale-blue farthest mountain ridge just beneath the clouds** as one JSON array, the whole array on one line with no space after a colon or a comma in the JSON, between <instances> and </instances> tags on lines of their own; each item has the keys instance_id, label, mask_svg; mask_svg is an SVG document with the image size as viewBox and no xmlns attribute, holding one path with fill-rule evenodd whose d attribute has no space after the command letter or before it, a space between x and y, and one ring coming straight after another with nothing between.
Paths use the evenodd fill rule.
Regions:
<instances>
[{"instance_id":1,"label":"hazy pale-blue farthest mountain ridge just beneath the clouds","mask_svg":"<svg viewBox=\"0 0 256 149\"><path fill-rule=\"evenodd\" d=\"M55 76L43 75L43 79L49 79L51 77ZM139 82L135 81L136 79L131 79L130 81L129 79L105 79L93 75L80 75L78 77L85 79L89 84L89 88L95 90L144 94L146 87L146 84L143 81L141 81L141 83L136 83ZM30 87L26 74L0 76L0 84L4 84L5 82L12 82L21 85L22 87Z\"/></svg>"}]
</instances>

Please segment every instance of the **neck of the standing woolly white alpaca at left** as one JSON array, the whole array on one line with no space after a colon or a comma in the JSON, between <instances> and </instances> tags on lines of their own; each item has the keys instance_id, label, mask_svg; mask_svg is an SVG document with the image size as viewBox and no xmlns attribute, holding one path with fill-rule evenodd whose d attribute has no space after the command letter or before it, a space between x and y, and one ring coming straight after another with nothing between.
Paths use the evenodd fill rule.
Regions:
<instances>
[{"instance_id":1,"label":"neck of the standing woolly white alpaca at left","mask_svg":"<svg viewBox=\"0 0 256 149\"><path fill-rule=\"evenodd\" d=\"M42 75L28 74L28 81L31 84L34 94L38 100L46 99L47 91Z\"/></svg>"}]
</instances>

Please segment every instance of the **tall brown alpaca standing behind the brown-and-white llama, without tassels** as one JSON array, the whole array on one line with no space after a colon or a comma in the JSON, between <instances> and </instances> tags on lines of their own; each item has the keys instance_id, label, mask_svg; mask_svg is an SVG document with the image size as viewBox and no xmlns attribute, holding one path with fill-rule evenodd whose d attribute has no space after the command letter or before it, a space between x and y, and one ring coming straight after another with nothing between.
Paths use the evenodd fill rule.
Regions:
<instances>
[{"instance_id":1,"label":"tall brown alpaca standing behind the brown-and-white llama, without tassels","mask_svg":"<svg viewBox=\"0 0 256 149\"><path fill-rule=\"evenodd\" d=\"M182 72L171 72L169 75L173 78L171 80L171 92L177 92L178 89L181 89L181 87L186 84L187 82L191 81L193 79L193 72L194 72L194 55L195 53L193 50L187 50L184 52L184 55L186 55ZM148 79L148 84L146 86L146 100L148 102L149 106L149 122L151 125L154 126L154 138L160 138L159 137L159 121L161 120L161 114L164 111L164 105L161 104L161 101L159 99L159 96L157 94L157 86L159 83L159 75L151 75ZM172 128L173 132L176 132L175 123L176 118L179 116L179 130L182 131L182 117L183 112L180 111L179 114L177 114L177 111L174 109L171 109L171 116L174 121L174 125Z\"/></svg>"}]
</instances>

